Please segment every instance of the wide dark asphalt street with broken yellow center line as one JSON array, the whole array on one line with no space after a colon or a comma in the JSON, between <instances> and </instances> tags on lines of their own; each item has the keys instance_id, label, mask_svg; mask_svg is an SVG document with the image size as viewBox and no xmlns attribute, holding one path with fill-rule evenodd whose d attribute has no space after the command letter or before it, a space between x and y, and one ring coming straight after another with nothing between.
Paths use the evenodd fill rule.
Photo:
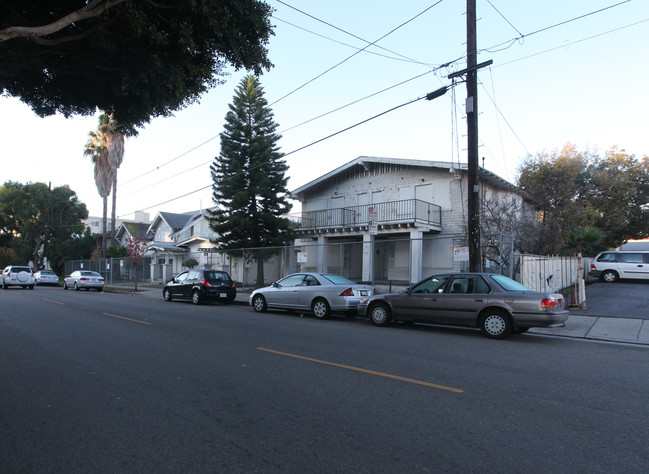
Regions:
<instances>
[{"instance_id":1,"label":"wide dark asphalt street with broken yellow center line","mask_svg":"<svg viewBox=\"0 0 649 474\"><path fill-rule=\"evenodd\" d=\"M649 349L0 291L0 471L646 472Z\"/></svg>"}]
</instances>

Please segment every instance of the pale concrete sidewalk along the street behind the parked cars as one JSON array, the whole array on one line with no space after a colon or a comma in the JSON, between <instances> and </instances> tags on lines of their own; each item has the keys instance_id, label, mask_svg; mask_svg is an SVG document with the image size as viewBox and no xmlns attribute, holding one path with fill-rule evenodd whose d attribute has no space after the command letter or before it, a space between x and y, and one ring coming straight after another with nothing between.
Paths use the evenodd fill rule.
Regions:
<instances>
[{"instance_id":1,"label":"pale concrete sidewalk along the street behind the parked cars","mask_svg":"<svg viewBox=\"0 0 649 474\"><path fill-rule=\"evenodd\" d=\"M133 286L107 286L106 291L128 292ZM162 299L162 286L142 285L137 296ZM237 293L234 303L248 305L250 293ZM649 319L599 316L596 311L571 310L563 328L531 328L528 334L543 336L626 342L649 346Z\"/></svg>"}]
</instances>

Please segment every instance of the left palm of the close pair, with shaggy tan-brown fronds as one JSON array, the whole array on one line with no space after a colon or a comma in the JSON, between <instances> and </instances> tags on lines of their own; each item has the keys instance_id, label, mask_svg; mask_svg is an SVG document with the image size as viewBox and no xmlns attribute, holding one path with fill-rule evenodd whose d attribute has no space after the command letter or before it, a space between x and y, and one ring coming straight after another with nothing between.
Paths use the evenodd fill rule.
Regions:
<instances>
[{"instance_id":1,"label":"left palm of the close pair, with shaggy tan-brown fronds","mask_svg":"<svg viewBox=\"0 0 649 474\"><path fill-rule=\"evenodd\" d=\"M110 117L106 114L99 116L99 126L90 132L88 142L83 150L84 156L89 156L95 165L95 184L97 191L104 200L102 220L102 258L106 257L106 221L108 219L108 196L113 184L113 169L108 161L108 126Z\"/></svg>"}]
</instances>

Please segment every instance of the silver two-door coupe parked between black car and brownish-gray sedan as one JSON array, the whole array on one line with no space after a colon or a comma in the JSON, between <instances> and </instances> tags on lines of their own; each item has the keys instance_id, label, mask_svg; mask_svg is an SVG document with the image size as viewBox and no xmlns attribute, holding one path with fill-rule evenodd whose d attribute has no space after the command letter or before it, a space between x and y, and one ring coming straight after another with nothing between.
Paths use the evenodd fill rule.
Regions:
<instances>
[{"instance_id":1,"label":"silver two-door coupe parked between black car and brownish-gray sedan","mask_svg":"<svg viewBox=\"0 0 649 474\"><path fill-rule=\"evenodd\" d=\"M373 286L358 285L338 275L293 273L271 286L253 291L250 305L257 312L268 308L310 311L316 318L324 319L332 312L356 316L361 298L373 294Z\"/></svg>"}]
</instances>

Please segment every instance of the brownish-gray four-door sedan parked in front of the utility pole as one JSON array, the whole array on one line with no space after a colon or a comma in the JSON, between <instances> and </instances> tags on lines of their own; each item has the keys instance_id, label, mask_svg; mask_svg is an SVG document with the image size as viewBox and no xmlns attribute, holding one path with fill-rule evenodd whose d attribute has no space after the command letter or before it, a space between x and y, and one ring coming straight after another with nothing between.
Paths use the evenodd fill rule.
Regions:
<instances>
[{"instance_id":1,"label":"brownish-gray four-door sedan parked in front of the utility pole","mask_svg":"<svg viewBox=\"0 0 649 474\"><path fill-rule=\"evenodd\" d=\"M500 339L530 327L561 327L568 319L563 296L541 293L503 275L450 273L434 275L401 293L365 298L361 316L373 324L411 321L479 327Z\"/></svg>"}]
</instances>

